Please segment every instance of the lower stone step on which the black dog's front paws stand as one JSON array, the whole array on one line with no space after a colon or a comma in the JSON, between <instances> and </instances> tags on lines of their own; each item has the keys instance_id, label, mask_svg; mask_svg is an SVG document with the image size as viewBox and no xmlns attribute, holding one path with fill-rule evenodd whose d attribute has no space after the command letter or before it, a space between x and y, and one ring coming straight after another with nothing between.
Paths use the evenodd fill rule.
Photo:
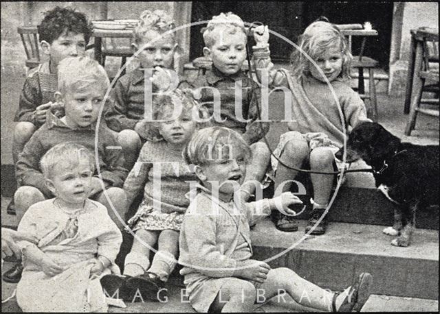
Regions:
<instances>
[{"instance_id":1,"label":"lower stone step on which the black dog's front paws stand","mask_svg":"<svg viewBox=\"0 0 440 314\"><path fill-rule=\"evenodd\" d=\"M373 275L372 293L437 299L439 295L439 234L415 230L409 247L391 245L382 226L330 223L320 236L305 237L307 221L298 232L281 232L266 219L252 231L254 258L272 267L289 267L320 287L347 287L363 271Z\"/></svg>"}]
</instances>

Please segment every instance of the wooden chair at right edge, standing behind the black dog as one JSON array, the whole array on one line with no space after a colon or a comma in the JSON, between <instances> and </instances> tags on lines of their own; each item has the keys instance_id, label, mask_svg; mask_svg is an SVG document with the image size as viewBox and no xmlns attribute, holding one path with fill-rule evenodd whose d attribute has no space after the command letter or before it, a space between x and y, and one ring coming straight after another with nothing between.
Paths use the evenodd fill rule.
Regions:
<instances>
[{"instance_id":1,"label":"wooden chair at right edge, standing behind the black dog","mask_svg":"<svg viewBox=\"0 0 440 314\"><path fill-rule=\"evenodd\" d=\"M439 29L420 27L412 31L412 36L416 43L416 49L414 75L410 90L410 116L405 128L406 135L410 135L414 130L419 112L439 117L439 108L421 108L422 103L439 106L439 99L421 99L426 82L430 82L431 86L437 86L437 88L439 86ZM437 63L437 67L433 67L434 62Z\"/></svg>"}]
</instances>

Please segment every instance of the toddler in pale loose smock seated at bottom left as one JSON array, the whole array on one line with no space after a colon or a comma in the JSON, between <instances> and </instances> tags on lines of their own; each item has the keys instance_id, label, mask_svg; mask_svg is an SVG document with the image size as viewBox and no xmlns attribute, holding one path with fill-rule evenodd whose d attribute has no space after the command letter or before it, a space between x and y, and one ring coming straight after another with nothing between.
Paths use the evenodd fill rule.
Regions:
<instances>
[{"instance_id":1,"label":"toddler in pale loose smock seated at bottom left","mask_svg":"<svg viewBox=\"0 0 440 314\"><path fill-rule=\"evenodd\" d=\"M47 151L40 164L56 197L30 206L20 221L19 232L37 241L19 242L24 269L17 302L23 312L107 311L98 277L119 272L113 262L122 235L107 208L87 198L95 158L67 142Z\"/></svg>"}]
</instances>

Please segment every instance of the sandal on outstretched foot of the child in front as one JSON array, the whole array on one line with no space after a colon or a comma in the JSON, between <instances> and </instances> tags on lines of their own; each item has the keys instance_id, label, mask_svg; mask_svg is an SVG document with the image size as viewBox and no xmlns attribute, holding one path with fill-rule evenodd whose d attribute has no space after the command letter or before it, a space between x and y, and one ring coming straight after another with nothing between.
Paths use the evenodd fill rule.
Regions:
<instances>
[{"instance_id":1,"label":"sandal on outstretched foot of the child in front","mask_svg":"<svg viewBox=\"0 0 440 314\"><path fill-rule=\"evenodd\" d=\"M358 277L358 280L351 286L349 294L342 302L339 309L336 309L336 298L341 292L337 292L333 295L331 301L331 308L333 312L360 312L362 306L364 306L366 300L370 297L370 285L373 277L369 273L362 273Z\"/></svg>"}]
</instances>

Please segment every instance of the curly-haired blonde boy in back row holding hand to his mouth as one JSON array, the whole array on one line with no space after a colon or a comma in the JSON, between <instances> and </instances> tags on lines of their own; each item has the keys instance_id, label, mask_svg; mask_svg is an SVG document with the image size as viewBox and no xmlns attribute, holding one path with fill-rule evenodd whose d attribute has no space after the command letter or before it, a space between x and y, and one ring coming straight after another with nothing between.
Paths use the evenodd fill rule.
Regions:
<instances>
[{"instance_id":1,"label":"curly-haired blonde boy in back row holding hand to his mouth","mask_svg":"<svg viewBox=\"0 0 440 314\"><path fill-rule=\"evenodd\" d=\"M122 76L111 91L113 104L105 114L107 125L118 133L118 141L123 148L129 169L139 155L144 138L145 108L145 70L153 71L152 92L162 89L163 78L168 78L166 69L176 66L177 43L175 34L163 35L175 28L173 19L162 10L144 11L140 22L133 29L133 53L143 49L137 55L140 67Z\"/></svg>"}]
</instances>

